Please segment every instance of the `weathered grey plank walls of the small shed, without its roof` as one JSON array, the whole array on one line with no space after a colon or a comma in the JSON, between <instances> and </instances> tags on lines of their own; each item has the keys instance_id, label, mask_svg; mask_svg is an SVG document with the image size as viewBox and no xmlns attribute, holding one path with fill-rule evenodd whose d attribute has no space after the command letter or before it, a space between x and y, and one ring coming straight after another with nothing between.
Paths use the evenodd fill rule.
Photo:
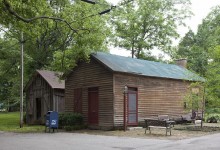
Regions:
<instances>
[{"instance_id":1,"label":"weathered grey plank walls of the small shed, without its roof","mask_svg":"<svg viewBox=\"0 0 220 150\"><path fill-rule=\"evenodd\" d=\"M41 99L41 118L37 119L36 99ZM56 103L56 101L58 103ZM57 108L60 108L57 109ZM28 124L44 124L47 111L64 111L64 90L54 90L39 74L26 90L26 118Z\"/></svg>"}]
</instances>

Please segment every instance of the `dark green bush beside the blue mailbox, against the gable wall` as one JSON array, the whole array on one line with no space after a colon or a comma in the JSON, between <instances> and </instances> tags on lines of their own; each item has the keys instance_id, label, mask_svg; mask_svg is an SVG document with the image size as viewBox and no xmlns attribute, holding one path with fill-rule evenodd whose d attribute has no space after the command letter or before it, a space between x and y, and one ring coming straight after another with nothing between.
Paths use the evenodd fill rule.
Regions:
<instances>
[{"instance_id":1,"label":"dark green bush beside the blue mailbox, against the gable wall","mask_svg":"<svg viewBox=\"0 0 220 150\"><path fill-rule=\"evenodd\" d=\"M84 128L83 117L79 113L59 114L59 127L66 131L79 130Z\"/></svg>"}]
</instances>

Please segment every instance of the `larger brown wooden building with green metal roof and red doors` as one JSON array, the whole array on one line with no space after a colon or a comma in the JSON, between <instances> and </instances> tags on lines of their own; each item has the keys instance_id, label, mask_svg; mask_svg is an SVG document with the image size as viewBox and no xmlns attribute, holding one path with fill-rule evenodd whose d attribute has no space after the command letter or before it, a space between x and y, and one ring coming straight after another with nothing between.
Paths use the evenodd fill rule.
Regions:
<instances>
[{"instance_id":1,"label":"larger brown wooden building with green metal roof and red doors","mask_svg":"<svg viewBox=\"0 0 220 150\"><path fill-rule=\"evenodd\" d=\"M67 76L65 111L82 113L89 127L104 130L160 114L177 117L185 113L189 84L201 80L177 65L97 52Z\"/></svg>"}]
</instances>

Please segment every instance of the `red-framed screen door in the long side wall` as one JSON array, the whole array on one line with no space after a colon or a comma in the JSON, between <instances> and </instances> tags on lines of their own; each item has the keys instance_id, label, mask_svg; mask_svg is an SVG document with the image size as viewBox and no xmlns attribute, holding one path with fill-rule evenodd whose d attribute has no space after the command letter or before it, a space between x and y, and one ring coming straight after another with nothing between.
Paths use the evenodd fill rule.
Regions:
<instances>
[{"instance_id":1,"label":"red-framed screen door in the long side wall","mask_svg":"<svg viewBox=\"0 0 220 150\"><path fill-rule=\"evenodd\" d=\"M138 124L137 91L128 92L128 125Z\"/></svg>"}]
</instances>

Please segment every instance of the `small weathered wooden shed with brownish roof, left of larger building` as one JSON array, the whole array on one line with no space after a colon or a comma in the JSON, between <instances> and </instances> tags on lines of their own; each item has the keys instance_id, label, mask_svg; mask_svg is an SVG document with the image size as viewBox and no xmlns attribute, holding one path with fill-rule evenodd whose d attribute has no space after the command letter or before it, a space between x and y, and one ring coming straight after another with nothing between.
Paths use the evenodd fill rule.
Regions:
<instances>
[{"instance_id":1,"label":"small weathered wooden shed with brownish roof, left of larger building","mask_svg":"<svg viewBox=\"0 0 220 150\"><path fill-rule=\"evenodd\" d=\"M60 73L37 70L27 83L26 121L28 124L45 123L47 111L64 112L65 82Z\"/></svg>"}]
</instances>

